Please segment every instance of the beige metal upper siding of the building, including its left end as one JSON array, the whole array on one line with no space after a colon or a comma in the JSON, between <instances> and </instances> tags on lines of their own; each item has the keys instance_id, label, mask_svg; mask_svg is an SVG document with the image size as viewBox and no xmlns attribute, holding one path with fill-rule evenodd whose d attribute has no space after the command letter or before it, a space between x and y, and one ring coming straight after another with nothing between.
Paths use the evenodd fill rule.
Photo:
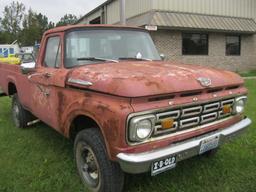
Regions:
<instances>
[{"instance_id":1,"label":"beige metal upper siding of the building, including its left end","mask_svg":"<svg viewBox=\"0 0 256 192\"><path fill-rule=\"evenodd\" d=\"M102 7L88 15L81 23L89 23L101 15ZM255 0L126 0L126 17L131 18L150 10L189 12L207 15L254 18ZM106 23L119 22L119 0L106 5Z\"/></svg>"}]
</instances>

